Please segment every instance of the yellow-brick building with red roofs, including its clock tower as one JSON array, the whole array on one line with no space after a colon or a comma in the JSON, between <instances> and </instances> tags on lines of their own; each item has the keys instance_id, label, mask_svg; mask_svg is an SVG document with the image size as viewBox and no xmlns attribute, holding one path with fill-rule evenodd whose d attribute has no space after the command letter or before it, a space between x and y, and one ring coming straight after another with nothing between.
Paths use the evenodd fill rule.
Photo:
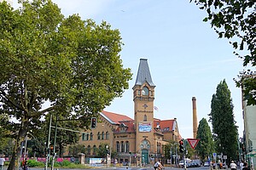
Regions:
<instances>
[{"instance_id":1,"label":"yellow-brick building with red roofs, including its clock tower","mask_svg":"<svg viewBox=\"0 0 256 170\"><path fill-rule=\"evenodd\" d=\"M134 119L102 111L97 126L86 130L79 139L86 157L96 156L96 149L107 144L112 160L119 163L150 164L163 158L164 145L180 139L177 119L154 118L154 88L148 59L140 59L137 79L133 89ZM113 154L114 153L114 154Z\"/></svg>"}]
</instances>

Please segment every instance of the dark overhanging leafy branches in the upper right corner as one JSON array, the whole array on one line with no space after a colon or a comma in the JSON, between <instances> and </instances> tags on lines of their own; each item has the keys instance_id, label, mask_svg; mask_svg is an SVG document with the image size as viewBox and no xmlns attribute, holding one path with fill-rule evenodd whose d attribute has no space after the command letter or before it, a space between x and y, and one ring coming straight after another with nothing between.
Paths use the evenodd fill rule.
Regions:
<instances>
[{"instance_id":1,"label":"dark overhanging leafy branches in the upper right corner","mask_svg":"<svg viewBox=\"0 0 256 170\"><path fill-rule=\"evenodd\" d=\"M210 21L219 38L233 38L230 42L235 50L242 53L237 56L243 59L243 65L256 65L256 1L255 0L190 0L207 11L204 21ZM256 105L256 77L246 77L251 70L241 71L238 87L244 89L248 105Z\"/></svg>"}]
</instances>

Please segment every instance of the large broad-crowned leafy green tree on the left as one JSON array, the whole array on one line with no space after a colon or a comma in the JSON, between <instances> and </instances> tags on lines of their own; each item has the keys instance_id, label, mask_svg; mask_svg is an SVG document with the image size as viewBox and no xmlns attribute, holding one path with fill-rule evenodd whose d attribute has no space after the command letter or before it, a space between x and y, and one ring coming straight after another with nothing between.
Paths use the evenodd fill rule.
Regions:
<instances>
[{"instance_id":1,"label":"large broad-crowned leafy green tree on the left","mask_svg":"<svg viewBox=\"0 0 256 170\"><path fill-rule=\"evenodd\" d=\"M16 119L6 126L15 139L9 170L18 165L20 142L49 112L75 115L86 128L131 80L120 33L108 23L64 18L50 0L19 2L16 10L0 3L0 113Z\"/></svg>"}]
</instances>

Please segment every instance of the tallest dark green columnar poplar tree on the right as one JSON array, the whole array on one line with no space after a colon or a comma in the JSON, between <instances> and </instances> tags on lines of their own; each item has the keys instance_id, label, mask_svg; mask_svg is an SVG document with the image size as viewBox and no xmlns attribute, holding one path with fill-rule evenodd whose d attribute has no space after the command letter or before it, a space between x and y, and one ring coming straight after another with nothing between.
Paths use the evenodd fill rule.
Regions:
<instances>
[{"instance_id":1,"label":"tallest dark green columnar poplar tree on the right","mask_svg":"<svg viewBox=\"0 0 256 170\"><path fill-rule=\"evenodd\" d=\"M228 160L238 159L238 132L234 120L230 89L224 81L218 84L216 94L212 95L211 113L213 139L218 154L228 156Z\"/></svg>"}]
</instances>

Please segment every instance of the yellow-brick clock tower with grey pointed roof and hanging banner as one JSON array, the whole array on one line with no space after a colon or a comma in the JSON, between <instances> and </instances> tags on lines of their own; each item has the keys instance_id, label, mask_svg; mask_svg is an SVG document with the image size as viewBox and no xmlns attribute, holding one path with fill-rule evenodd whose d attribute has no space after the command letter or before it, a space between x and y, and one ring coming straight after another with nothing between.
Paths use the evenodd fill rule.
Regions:
<instances>
[{"instance_id":1,"label":"yellow-brick clock tower with grey pointed roof and hanging banner","mask_svg":"<svg viewBox=\"0 0 256 170\"><path fill-rule=\"evenodd\" d=\"M154 153L154 88L148 59L140 59L133 89L137 161L149 163Z\"/></svg>"}]
</instances>

